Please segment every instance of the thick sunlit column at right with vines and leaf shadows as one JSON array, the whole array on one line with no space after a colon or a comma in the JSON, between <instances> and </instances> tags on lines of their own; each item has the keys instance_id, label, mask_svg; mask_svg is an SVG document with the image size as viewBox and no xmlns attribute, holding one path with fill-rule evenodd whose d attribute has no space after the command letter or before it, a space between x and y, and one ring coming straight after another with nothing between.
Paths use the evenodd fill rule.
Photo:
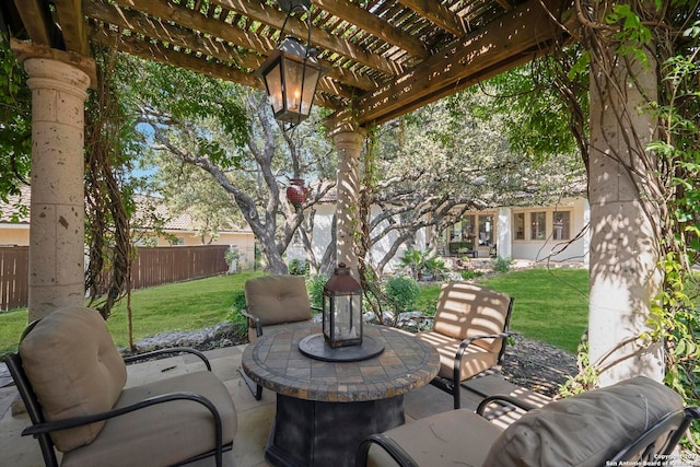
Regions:
<instances>
[{"instance_id":1,"label":"thick sunlit column at right with vines and leaf shadows","mask_svg":"<svg viewBox=\"0 0 700 467\"><path fill-rule=\"evenodd\" d=\"M634 375L661 381L664 373L661 346L638 338L648 330L663 278L654 222L658 201L630 170L654 164L644 148L654 136L646 103L656 100L657 82L654 56L646 57L649 68L629 57L629 69L619 59L611 70L594 66L591 72L588 332L591 362L603 370L603 385Z\"/></svg>"}]
</instances>

